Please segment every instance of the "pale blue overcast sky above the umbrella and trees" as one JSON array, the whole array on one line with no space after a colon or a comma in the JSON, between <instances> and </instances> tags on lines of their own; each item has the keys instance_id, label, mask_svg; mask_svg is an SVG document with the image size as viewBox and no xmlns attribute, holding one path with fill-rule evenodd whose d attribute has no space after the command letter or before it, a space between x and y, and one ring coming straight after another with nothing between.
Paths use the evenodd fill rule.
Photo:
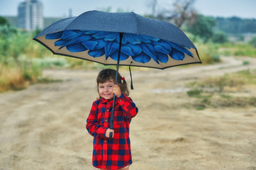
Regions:
<instances>
[{"instance_id":1,"label":"pale blue overcast sky above the umbrella and trees","mask_svg":"<svg viewBox=\"0 0 256 170\"><path fill-rule=\"evenodd\" d=\"M16 16L18 4L25 0L0 0L0 16ZM111 12L121 9L140 15L150 14L152 0L40 0L45 17L79 16L85 11L101 10L111 6ZM174 0L157 0L157 9L171 8ZM256 18L256 0L196 0L194 9L204 16Z\"/></svg>"}]
</instances>

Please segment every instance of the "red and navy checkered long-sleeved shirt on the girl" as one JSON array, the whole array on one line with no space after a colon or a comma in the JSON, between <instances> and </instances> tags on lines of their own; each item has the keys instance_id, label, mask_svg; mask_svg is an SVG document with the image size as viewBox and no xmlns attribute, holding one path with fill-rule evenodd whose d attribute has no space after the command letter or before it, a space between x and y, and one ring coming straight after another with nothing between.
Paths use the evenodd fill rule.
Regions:
<instances>
[{"instance_id":1,"label":"red and navy checkered long-sleeved shirt on the girl","mask_svg":"<svg viewBox=\"0 0 256 170\"><path fill-rule=\"evenodd\" d=\"M94 137L92 164L99 169L121 169L132 164L130 152L129 126L131 118L138 113L135 103L124 94L116 98L113 140L106 138L110 125L113 100L101 98L94 101L89 117L87 130Z\"/></svg>"}]
</instances>

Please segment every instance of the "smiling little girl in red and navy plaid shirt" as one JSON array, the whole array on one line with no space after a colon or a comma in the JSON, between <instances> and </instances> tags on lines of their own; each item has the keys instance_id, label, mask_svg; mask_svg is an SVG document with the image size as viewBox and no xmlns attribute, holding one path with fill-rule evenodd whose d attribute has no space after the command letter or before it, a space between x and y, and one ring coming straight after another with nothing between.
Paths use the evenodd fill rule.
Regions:
<instances>
[{"instance_id":1,"label":"smiling little girl in red and navy plaid shirt","mask_svg":"<svg viewBox=\"0 0 256 170\"><path fill-rule=\"evenodd\" d=\"M129 169L132 164L130 152L129 126L131 118L138 113L138 108L128 97L126 80L116 70L104 69L96 79L98 100L94 101L87 118L87 130L94 137L92 164L99 169ZM116 95L113 130L109 129L113 95ZM109 141L109 133L113 140Z\"/></svg>"}]
</instances>

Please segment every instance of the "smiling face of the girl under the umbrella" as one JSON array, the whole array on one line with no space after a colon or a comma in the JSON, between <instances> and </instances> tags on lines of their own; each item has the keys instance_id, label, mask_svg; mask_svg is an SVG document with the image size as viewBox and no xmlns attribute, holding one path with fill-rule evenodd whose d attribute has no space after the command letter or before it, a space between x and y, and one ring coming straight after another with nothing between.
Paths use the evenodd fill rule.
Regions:
<instances>
[{"instance_id":1,"label":"smiling face of the girl under the umbrella","mask_svg":"<svg viewBox=\"0 0 256 170\"><path fill-rule=\"evenodd\" d=\"M103 84L99 83L99 96L101 96L101 98L105 98L106 100L112 99L114 85L115 84L113 83L113 81L106 81Z\"/></svg>"}]
</instances>

